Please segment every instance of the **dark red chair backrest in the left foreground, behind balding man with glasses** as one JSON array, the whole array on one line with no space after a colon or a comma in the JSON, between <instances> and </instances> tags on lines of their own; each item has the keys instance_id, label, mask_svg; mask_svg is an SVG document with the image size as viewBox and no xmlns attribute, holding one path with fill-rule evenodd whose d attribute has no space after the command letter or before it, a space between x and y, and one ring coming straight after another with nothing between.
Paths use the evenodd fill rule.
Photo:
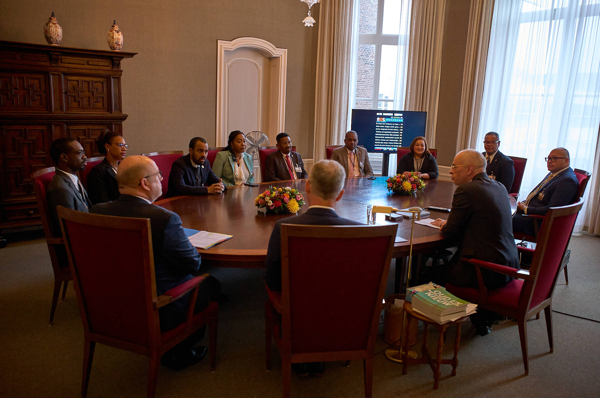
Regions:
<instances>
[{"instance_id":1,"label":"dark red chair backrest in the left foreground, behind balding man with glasses","mask_svg":"<svg viewBox=\"0 0 600 398\"><path fill-rule=\"evenodd\" d=\"M58 207L85 333L137 346L160 339L150 221ZM91 237L118 244L119 255ZM98 247L94 247L98 245Z\"/></svg>"}]
</instances>

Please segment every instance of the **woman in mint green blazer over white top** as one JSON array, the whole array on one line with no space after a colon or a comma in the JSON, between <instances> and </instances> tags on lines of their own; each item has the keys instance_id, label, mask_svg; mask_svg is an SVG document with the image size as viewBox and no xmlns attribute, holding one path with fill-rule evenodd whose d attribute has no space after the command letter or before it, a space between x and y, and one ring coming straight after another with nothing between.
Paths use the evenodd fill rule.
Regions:
<instances>
[{"instance_id":1,"label":"woman in mint green blazer over white top","mask_svg":"<svg viewBox=\"0 0 600 398\"><path fill-rule=\"evenodd\" d=\"M246 153L246 137L236 130L229 134L227 146L217 153L212 171L223 180L226 186L254 183L252 156Z\"/></svg>"}]
</instances>

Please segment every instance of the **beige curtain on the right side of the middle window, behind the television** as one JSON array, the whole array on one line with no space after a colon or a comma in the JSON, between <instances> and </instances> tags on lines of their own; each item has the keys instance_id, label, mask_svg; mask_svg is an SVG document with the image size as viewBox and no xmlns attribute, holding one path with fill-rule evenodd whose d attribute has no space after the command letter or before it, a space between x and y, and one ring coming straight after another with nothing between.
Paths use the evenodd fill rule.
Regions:
<instances>
[{"instance_id":1,"label":"beige curtain on the right side of the middle window, behind the television","mask_svg":"<svg viewBox=\"0 0 600 398\"><path fill-rule=\"evenodd\" d=\"M410 11L406 110L427 111L425 137L436 144L437 100L442 64L446 0L413 1Z\"/></svg>"}]
</instances>

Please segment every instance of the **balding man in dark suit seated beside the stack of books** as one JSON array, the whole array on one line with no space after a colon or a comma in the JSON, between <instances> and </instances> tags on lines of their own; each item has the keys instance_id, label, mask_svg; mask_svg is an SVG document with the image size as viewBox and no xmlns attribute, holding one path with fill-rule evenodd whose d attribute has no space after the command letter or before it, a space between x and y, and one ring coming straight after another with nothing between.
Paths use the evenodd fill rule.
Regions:
<instances>
[{"instance_id":1,"label":"balding man in dark suit seated beside the stack of books","mask_svg":"<svg viewBox=\"0 0 600 398\"><path fill-rule=\"evenodd\" d=\"M450 174L457 186L448 221L437 219L445 239L458 244L458 250L437 281L457 286L478 287L475 267L460 261L472 257L502 266L519 268L517 246L512 236L512 212L506 189L485 174L485 159L475 149L465 149L454 158ZM495 290L512 278L481 270L485 287ZM445 274L445 275L444 275ZM479 334L490 333L488 319L472 319ZM478 323L478 321L482 321Z\"/></svg>"}]
</instances>

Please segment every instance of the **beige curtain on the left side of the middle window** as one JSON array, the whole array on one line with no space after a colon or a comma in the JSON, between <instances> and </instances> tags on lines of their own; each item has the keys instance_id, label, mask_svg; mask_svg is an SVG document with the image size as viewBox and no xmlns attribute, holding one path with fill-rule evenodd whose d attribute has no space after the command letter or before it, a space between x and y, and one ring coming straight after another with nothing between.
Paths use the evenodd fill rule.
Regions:
<instances>
[{"instance_id":1,"label":"beige curtain on the left side of the middle window","mask_svg":"<svg viewBox=\"0 0 600 398\"><path fill-rule=\"evenodd\" d=\"M353 0L320 3L319 46L314 100L314 161L325 159L325 146L346 134L352 42Z\"/></svg>"}]
</instances>

